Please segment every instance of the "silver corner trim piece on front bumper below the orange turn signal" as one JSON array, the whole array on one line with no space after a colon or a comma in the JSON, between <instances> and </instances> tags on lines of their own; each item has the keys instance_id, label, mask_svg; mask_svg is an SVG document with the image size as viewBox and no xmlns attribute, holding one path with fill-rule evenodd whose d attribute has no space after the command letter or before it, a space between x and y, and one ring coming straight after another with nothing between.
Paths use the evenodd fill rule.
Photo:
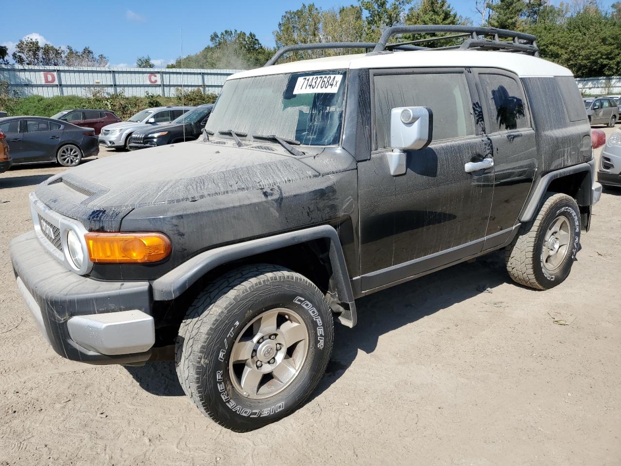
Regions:
<instances>
[{"instance_id":1,"label":"silver corner trim piece on front bumper below the orange turn signal","mask_svg":"<svg viewBox=\"0 0 621 466\"><path fill-rule=\"evenodd\" d=\"M155 344L153 318L138 309L73 316L67 329L78 345L106 355L142 353Z\"/></svg>"}]
</instances>

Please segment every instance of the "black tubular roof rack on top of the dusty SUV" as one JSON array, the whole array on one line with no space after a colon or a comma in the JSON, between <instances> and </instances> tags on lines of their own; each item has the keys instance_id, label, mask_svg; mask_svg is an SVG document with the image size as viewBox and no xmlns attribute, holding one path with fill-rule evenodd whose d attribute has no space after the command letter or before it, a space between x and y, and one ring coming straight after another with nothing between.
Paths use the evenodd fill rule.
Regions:
<instances>
[{"instance_id":1,"label":"black tubular roof rack on top of the dusty SUV","mask_svg":"<svg viewBox=\"0 0 621 466\"><path fill-rule=\"evenodd\" d=\"M388 43L393 35L399 34L447 34L427 37L424 39L409 40L407 42ZM491 39L489 38L491 37ZM423 47L420 43L438 42L447 39L464 39L456 45L444 47ZM510 39L510 40L501 40ZM301 43L288 45L274 53L274 56L265 63L265 66L274 65L285 53L299 50L322 50L327 48L366 48L373 49L373 53L393 50L499 50L501 52L525 53L539 56L537 38L531 34L495 27L475 27L458 25L410 25L392 26L384 30L378 42L325 42Z\"/></svg>"}]
</instances>

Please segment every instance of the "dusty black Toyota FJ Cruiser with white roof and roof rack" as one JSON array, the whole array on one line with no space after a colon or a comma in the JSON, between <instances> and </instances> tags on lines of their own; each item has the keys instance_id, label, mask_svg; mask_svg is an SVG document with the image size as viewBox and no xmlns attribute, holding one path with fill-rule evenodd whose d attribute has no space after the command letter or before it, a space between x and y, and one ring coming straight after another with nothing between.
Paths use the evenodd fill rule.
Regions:
<instances>
[{"instance_id":1,"label":"dusty black Toyota FJ Cruiser with white roof and roof rack","mask_svg":"<svg viewBox=\"0 0 621 466\"><path fill-rule=\"evenodd\" d=\"M450 37L388 42L432 32ZM368 51L273 65L311 48ZM601 186L573 76L537 55L532 35L458 26L280 50L227 79L201 139L37 186L17 286L63 357L135 365L175 344L202 413L283 418L356 298L499 249L521 285L568 276Z\"/></svg>"}]
</instances>

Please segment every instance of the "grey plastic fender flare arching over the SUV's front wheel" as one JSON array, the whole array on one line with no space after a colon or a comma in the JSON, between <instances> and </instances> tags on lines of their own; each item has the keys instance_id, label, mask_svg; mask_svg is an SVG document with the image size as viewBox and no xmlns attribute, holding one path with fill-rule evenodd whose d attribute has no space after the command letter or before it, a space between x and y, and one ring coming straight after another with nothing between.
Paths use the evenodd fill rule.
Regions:
<instances>
[{"instance_id":1,"label":"grey plastic fender flare arching over the SUV's front wheel","mask_svg":"<svg viewBox=\"0 0 621 466\"><path fill-rule=\"evenodd\" d=\"M155 301L170 301L181 296L197 280L219 265L316 239L330 241L331 281L334 284L334 291L338 301L348 304L348 309L335 302L329 303L330 307L333 311L340 313L338 319L342 324L353 327L357 321L356 305L354 303L353 291L351 290L350 278L347 273L345 256L343 255L337 231L329 225L253 239L201 252L201 254L188 259L170 272L160 276L160 278L153 280L153 299Z\"/></svg>"}]
</instances>

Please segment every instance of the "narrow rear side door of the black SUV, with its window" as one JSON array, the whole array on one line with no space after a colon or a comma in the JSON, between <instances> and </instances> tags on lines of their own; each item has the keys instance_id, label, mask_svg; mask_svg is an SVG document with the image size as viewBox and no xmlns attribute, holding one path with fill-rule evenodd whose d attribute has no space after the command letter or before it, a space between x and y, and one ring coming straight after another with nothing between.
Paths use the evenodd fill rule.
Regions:
<instances>
[{"instance_id":1,"label":"narrow rear side door of the black SUV, with its window","mask_svg":"<svg viewBox=\"0 0 621 466\"><path fill-rule=\"evenodd\" d=\"M508 71L474 70L486 134L494 150L494 199L485 249L507 240L537 171L537 148L522 81Z\"/></svg>"}]
</instances>

